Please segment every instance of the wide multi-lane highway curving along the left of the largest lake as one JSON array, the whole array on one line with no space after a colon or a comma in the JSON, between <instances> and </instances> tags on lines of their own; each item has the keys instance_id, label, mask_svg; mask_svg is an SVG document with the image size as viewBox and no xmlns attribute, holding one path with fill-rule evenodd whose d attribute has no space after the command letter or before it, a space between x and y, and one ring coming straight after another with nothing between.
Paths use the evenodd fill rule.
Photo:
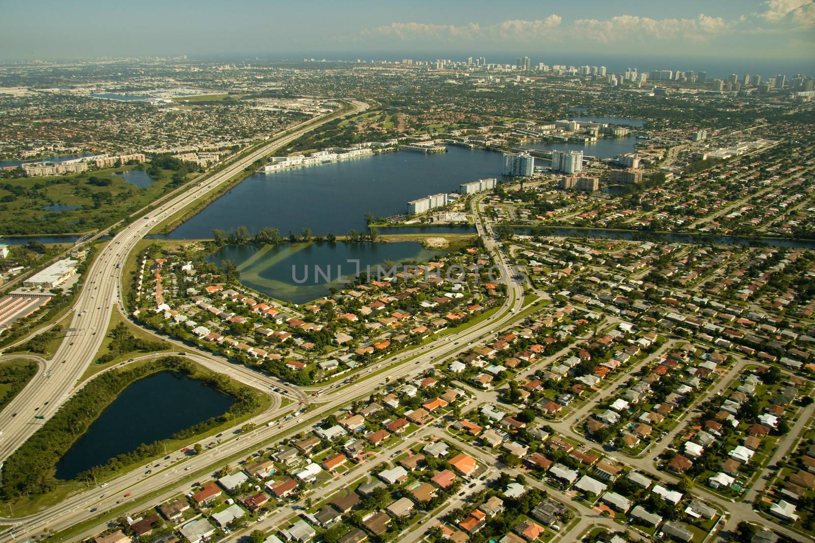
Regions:
<instances>
[{"instance_id":1,"label":"wide multi-lane highway curving along the left of the largest lake","mask_svg":"<svg viewBox=\"0 0 815 543\"><path fill-rule=\"evenodd\" d=\"M343 116L354 115L368 108L366 103L352 101L351 104L352 109ZM0 430L3 432L0 437L0 461L8 458L37 431L44 420L59 409L99 352L112 309L119 301L121 292L121 269L117 269L117 264L125 261L136 243L156 224L228 182L255 160L336 117L336 114L329 114L319 123L312 123L291 134L272 139L266 146L236 160L212 177L192 186L190 190L165 201L143 219L135 219L102 248L83 278L82 290L71 309L73 318L64 342L57 349L54 358L46 362L45 371L32 379L0 413ZM36 416L44 419L37 419Z\"/></svg>"}]
</instances>

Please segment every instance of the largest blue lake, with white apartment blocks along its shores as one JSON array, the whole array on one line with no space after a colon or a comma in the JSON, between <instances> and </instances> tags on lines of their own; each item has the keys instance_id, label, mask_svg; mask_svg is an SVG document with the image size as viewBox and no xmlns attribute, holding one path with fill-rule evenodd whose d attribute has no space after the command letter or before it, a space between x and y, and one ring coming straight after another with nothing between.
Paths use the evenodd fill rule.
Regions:
<instances>
[{"instance_id":1,"label":"largest blue lake, with white apartment blocks along its shores","mask_svg":"<svg viewBox=\"0 0 815 543\"><path fill-rule=\"evenodd\" d=\"M500 178L502 169L500 153L450 146L446 153L395 151L255 173L169 237L209 239L213 229L238 226L252 233L274 226L284 235L306 227L315 234L347 234L365 228L366 212L374 217L404 213L409 200L453 192L460 183L484 177Z\"/></svg>"}]
</instances>

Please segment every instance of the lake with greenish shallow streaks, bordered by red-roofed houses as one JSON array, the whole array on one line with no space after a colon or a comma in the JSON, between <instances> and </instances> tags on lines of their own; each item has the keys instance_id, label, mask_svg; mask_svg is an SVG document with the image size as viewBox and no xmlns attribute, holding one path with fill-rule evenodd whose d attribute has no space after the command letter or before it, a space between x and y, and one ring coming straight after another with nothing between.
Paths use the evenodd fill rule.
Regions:
<instances>
[{"instance_id":1,"label":"lake with greenish shallow streaks, bordered by red-roofed houses","mask_svg":"<svg viewBox=\"0 0 815 543\"><path fill-rule=\"evenodd\" d=\"M425 249L418 242L284 243L231 245L206 260L215 265L234 261L240 282L247 287L277 300L303 304L328 295L331 287L342 288L340 275L355 277L358 269L366 271L371 266L375 272L376 265L385 261L430 261L446 253L443 249ZM324 275L318 275L315 267Z\"/></svg>"}]
</instances>

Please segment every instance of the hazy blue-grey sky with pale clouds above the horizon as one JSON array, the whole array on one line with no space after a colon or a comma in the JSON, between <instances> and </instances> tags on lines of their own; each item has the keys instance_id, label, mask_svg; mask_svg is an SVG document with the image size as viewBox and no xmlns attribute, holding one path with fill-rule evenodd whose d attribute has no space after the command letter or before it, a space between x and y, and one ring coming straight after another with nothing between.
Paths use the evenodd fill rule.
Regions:
<instances>
[{"instance_id":1,"label":"hazy blue-grey sky with pale clouds above the horizon","mask_svg":"<svg viewBox=\"0 0 815 543\"><path fill-rule=\"evenodd\" d=\"M0 0L0 14L0 60L521 55L549 64L627 56L815 64L815 0Z\"/></svg>"}]
</instances>

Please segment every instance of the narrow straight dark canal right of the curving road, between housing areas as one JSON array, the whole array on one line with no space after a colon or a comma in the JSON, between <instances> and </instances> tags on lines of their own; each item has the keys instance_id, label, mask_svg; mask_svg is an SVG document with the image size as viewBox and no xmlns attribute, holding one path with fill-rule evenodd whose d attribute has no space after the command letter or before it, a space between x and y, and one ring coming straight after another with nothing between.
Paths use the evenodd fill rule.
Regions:
<instances>
[{"instance_id":1,"label":"narrow straight dark canal right of the curving road, between housing areas","mask_svg":"<svg viewBox=\"0 0 815 543\"><path fill-rule=\"evenodd\" d=\"M743 245L750 247L756 243L765 243L769 247L790 247L815 249L815 241L807 239L743 238L741 236L724 236L709 234L682 234L674 232L645 232L637 230L604 230L602 228L570 228L568 226L550 227L553 236L564 238L597 238L628 239L653 241L657 243L711 243L714 245ZM529 228L517 228L518 234L529 234Z\"/></svg>"}]
</instances>

